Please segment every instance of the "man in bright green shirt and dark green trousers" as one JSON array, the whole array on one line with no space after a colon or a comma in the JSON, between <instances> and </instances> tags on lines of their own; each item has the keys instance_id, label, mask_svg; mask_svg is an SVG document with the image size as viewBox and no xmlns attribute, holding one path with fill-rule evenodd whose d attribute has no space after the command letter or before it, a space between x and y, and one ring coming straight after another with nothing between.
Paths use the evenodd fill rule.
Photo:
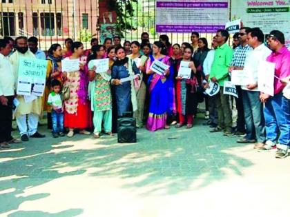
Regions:
<instances>
[{"instance_id":1,"label":"man in bright green shirt and dark green trousers","mask_svg":"<svg viewBox=\"0 0 290 217\"><path fill-rule=\"evenodd\" d=\"M224 135L232 133L231 108L229 105L229 95L224 94L224 81L229 81L228 68L231 65L233 50L226 44L229 39L229 32L226 30L218 30L215 40L218 42L218 48L215 50L213 65L211 65L211 73L209 79L220 85L220 92L216 96L218 107L218 127L213 128L211 132L220 132L224 130Z\"/></svg>"}]
</instances>

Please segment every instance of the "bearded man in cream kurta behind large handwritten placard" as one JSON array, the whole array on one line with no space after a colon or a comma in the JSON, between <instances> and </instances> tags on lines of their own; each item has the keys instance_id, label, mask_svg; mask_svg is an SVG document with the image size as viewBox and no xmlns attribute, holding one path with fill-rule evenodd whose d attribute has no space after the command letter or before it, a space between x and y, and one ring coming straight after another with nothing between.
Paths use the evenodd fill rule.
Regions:
<instances>
[{"instance_id":1,"label":"bearded man in cream kurta behind large handwritten placard","mask_svg":"<svg viewBox=\"0 0 290 217\"><path fill-rule=\"evenodd\" d=\"M15 52L10 56L10 62L14 70L14 78L17 83L19 74L19 59L21 57L34 59L35 54L28 50L28 43L26 37L18 37L15 39ZM16 87L17 90L17 87ZM39 120L39 115L41 114L41 97L26 103L23 96L17 95L19 105L15 112L15 117L17 125L20 131L21 141L28 141L30 137L43 138L45 135L39 134L37 132L37 125ZM26 124L26 116L28 115L28 129Z\"/></svg>"}]
</instances>

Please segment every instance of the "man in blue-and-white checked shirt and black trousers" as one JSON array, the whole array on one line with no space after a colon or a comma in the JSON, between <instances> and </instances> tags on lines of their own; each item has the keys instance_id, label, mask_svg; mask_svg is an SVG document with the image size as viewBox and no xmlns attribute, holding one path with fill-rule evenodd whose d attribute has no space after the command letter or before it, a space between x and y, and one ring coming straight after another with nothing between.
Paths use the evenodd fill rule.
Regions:
<instances>
[{"instance_id":1,"label":"man in blue-and-white checked shirt and black trousers","mask_svg":"<svg viewBox=\"0 0 290 217\"><path fill-rule=\"evenodd\" d=\"M253 50L251 46L248 44L247 39L247 30L250 28L242 27L240 28L240 32L238 34L240 45L233 50L233 59L231 61L231 68L232 70L243 70L244 69L244 60L246 59L246 54L249 50ZM242 101L242 88L240 85L236 86L238 92L238 98L235 98L235 106L238 110L238 120L237 120L237 127L233 135L228 136L243 136L245 134L245 123L244 123L244 105Z\"/></svg>"}]
</instances>

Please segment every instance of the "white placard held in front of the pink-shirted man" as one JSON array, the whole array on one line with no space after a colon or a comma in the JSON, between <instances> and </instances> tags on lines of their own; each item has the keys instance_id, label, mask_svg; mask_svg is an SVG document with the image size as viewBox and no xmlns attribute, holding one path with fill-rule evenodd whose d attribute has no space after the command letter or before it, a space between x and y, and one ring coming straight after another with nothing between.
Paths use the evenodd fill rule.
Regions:
<instances>
[{"instance_id":1,"label":"white placard held in front of the pink-shirted man","mask_svg":"<svg viewBox=\"0 0 290 217\"><path fill-rule=\"evenodd\" d=\"M258 90L274 96L275 63L261 61L258 68Z\"/></svg>"}]
</instances>

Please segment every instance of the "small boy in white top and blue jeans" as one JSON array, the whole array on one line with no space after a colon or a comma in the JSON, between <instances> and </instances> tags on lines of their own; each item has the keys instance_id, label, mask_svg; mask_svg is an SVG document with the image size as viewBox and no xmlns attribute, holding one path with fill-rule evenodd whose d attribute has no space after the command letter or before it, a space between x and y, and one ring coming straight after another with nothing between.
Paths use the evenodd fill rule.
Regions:
<instances>
[{"instance_id":1,"label":"small boy in white top and blue jeans","mask_svg":"<svg viewBox=\"0 0 290 217\"><path fill-rule=\"evenodd\" d=\"M58 80L51 82L52 92L48 95L48 105L52 107L52 136L64 136L64 106L61 101L61 83Z\"/></svg>"}]
</instances>

